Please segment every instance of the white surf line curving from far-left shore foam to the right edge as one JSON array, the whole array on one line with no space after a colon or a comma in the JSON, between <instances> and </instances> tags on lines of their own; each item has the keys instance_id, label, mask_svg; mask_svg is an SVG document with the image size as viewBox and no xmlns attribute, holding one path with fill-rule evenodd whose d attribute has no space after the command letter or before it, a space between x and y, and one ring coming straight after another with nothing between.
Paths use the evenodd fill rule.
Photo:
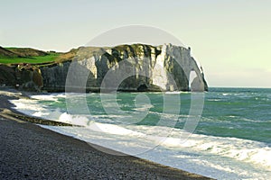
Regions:
<instances>
[{"instance_id":1,"label":"white surf line curving from far-left shore foam to the right edge","mask_svg":"<svg viewBox=\"0 0 271 180\"><path fill-rule=\"evenodd\" d=\"M51 94L49 96L36 95L35 99L48 100L63 97L64 94ZM60 109L55 109L52 112L48 112L48 109L37 105L36 100L12 100L12 103L16 105L16 109L33 116L46 115L53 121L61 121L71 123L74 125L85 126L89 130L99 130L107 134L125 135L127 137L138 136L152 141L154 144L160 144L168 148L192 148L197 151L206 151L211 154L220 155L223 157L231 157L240 161L251 162L266 167L271 167L271 148L266 146L265 143L236 138L221 138L212 137L199 134L186 134L183 130L174 129L173 127L162 126L145 126L145 125L126 125L116 124L115 119L117 114L109 115L71 115L67 112L61 112ZM26 105L27 104L27 105ZM150 107L145 107L150 108ZM164 114L161 112L150 112L164 115L168 119L177 118L174 114ZM180 117L180 116L179 116ZM187 117L187 116L184 116ZM229 116L236 118L236 116ZM102 118L102 121L98 121ZM126 118L119 116L120 118ZM206 118L205 118L206 119ZM253 121L242 118L243 121ZM210 121L210 120L208 120ZM255 122L255 121L254 121ZM115 124L114 124L115 123ZM90 124L90 125L89 125ZM130 135L129 135L130 133ZM129 135L129 136L128 136ZM182 137L190 137L185 142L182 141Z\"/></svg>"}]
</instances>

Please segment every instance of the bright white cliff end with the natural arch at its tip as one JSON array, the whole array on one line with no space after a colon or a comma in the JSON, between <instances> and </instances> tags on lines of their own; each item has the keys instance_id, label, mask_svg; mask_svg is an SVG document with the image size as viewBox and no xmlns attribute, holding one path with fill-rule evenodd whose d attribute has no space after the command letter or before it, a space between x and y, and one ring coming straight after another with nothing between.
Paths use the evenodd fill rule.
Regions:
<instances>
[{"instance_id":1,"label":"bright white cliff end with the natural arch at its tip","mask_svg":"<svg viewBox=\"0 0 271 180\"><path fill-rule=\"evenodd\" d=\"M167 66L164 66L165 64ZM192 72L194 76L191 78ZM191 57L190 49L164 44L161 54L156 58L153 83L165 91L176 91L180 90L182 84L187 88L189 82L189 88L193 87L193 91L203 91L204 82L201 74L201 68ZM193 83L194 80L197 83Z\"/></svg>"}]
</instances>

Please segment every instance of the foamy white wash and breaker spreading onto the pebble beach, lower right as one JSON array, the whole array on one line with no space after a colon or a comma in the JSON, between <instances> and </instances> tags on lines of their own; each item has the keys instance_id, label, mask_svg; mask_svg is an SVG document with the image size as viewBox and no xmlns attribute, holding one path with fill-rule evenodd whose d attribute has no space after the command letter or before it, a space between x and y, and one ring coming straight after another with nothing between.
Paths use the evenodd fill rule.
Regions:
<instances>
[{"instance_id":1,"label":"foamy white wash and breaker spreading onto the pebble beach, lower right","mask_svg":"<svg viewBox=\"0 0 271 180\"><path fill-rule=\"evenodd\" d=\"M97 128L94 128L94 124L90 125L90 128L42 127L218 179L266 179L271 175L270 148L262 148L264 143L244 139L217 139L204 135L192 135L191 139L180 143L178 138L159 136L157 132L159 127L148 130L148 133L153 135L146 135L145 130L148 127L145 126L123 128L112 124L93 123ZM172 136L180 136L179 133L173 131ZM164 141L156 147L154 144L157 140ZM242 146L239 147L240 145Z\"/></svg>"}]
</instances>

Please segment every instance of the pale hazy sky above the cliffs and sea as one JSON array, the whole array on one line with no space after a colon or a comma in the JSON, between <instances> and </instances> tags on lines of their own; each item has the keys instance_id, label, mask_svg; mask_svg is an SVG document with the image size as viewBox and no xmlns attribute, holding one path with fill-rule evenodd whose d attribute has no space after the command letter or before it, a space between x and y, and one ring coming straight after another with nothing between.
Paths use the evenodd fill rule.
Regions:
<instances>
[{"instance_id":1,"label":"pale hazy sky above the cliffs and sea","mask_svg":"<svg viewBox=\"0 0 271 180\"><path fill-rule=\"evenodd\" d=\"M3 47L68 51L131 24L191 47L209 86L271 87L268 0L0 0Z\"/></svg>"}]
</instances>

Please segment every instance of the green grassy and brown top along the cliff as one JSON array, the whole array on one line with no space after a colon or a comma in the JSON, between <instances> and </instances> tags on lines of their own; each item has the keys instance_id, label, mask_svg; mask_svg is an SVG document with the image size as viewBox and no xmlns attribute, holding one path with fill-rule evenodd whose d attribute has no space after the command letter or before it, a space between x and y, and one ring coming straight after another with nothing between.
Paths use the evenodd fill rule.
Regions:
<instances>
[{"instance_id":1,"label":"green grassy and brown top along the cliff","mask_svg":"<svg viewBox=\"0 0 271 180\"><path fill-rule=\"evenodd\" d=\"M166 44L169 47L178 47L172 44ZM79 47L77 49L70 49L68 52L42 51L32 48L3 48L0 47L0 64L43 64L43 63L59 63L77 58L89 58L94 54L107 53L110 51L126 51L127 54L135 56L135 54L144 53L148 49L154 49L154 54L161 53L163 45L152 46L141 43L123 44L115 47ZM178 47L183 48L183 47ZM183 48L185 49L185 48Z\"/></svg>"}]
</instances>

